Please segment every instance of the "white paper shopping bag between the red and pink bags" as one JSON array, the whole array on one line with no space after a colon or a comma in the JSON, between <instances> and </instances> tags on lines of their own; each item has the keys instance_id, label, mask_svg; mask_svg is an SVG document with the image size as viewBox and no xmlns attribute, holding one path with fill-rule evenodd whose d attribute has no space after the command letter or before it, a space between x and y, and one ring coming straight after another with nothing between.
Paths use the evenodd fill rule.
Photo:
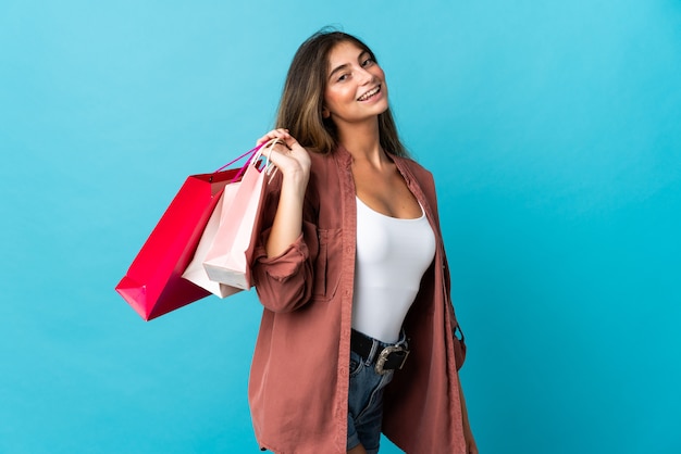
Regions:
<instances>
[{"instance_id":1,"label":"white paper shopping bag between the red and pink bags","mask_svg":"<svg viewBox=\"0 0 681 454\"><path fill-rule=\"evenodd\" d=\"M208 251L213 244L213 241L218 234L221 215L223 212L230 210L232 201L234 200L240 185L240 181L235 181L225 186L224 190L222 191L222 196L220 196L220 201L215 205L213 214L211 214L210 219L208 220L208 224L203 229L203 235L201 236L199 245L196 249L194 258L191 258L189 266L187 266L187 269L185 269L182 275L183 278L196 283L197 286L208 290L209 292L220 298L230 297L236 292L242 291L242 289L210 280L210 278L208 277L208 273L206 273L206 268L203 268L203 261L206 260Z\"/></svg>"}]
</instances>

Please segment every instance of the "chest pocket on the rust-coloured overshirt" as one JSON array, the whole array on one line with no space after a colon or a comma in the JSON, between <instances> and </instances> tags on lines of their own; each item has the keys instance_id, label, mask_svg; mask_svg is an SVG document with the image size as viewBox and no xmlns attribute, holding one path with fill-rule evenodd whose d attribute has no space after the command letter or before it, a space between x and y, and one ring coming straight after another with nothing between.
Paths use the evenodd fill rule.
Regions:
<instances>
[{"instance_id":1,"label":"chest pocket on the rust-coloured overshirt","mask_svg":"<svg viewBox=\"0 0 681 454\"><path fill-rule=\"evenodd\" d=\"M314 288L312 298L315 301L329 301L333 298L340 282L340 262L343 237L342 229L317 229L319 254L314 263Z\"/></svg>"}]
</instances>

